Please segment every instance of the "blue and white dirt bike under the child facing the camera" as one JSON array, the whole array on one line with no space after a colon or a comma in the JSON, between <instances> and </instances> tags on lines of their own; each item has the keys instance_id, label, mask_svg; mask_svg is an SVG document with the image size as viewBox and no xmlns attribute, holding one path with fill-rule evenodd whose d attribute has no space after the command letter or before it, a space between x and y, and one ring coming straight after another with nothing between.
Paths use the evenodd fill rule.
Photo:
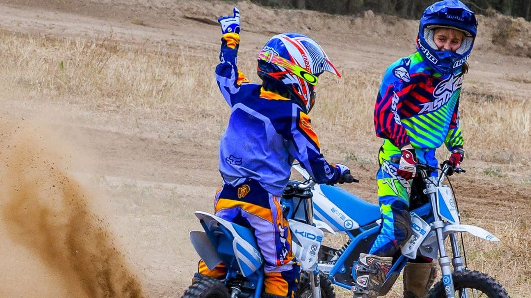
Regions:
<instances>
[{"instance_id":1,"label":"blue and white dirt bike under the child facing the camera","mask_svg":"<svg viewBox=\"0 0 531 298\"><path fill-rule=\"evenodd\" d=\"M294 166L294 168L305 179L310 179L302 167ZM494 278L467 268L462 236L460 242L461 247L463 247L463 254L461 254L458 239L460 233L466 232L485 240L500 241L482 228L460 223L460 214L453 188L451 188L451 184L450 187L443 185L443 181L448 173L461 173L465 170L454 169L448 164L443 164L442 168L418 165L417 169L419 177L414 180L410 195L413 233L393 258L393 266L379 291L379 296L389 292L408 259L415 259L417 255L420 255L426 258L439 259L441 267L442 278L430 290L430 298L509 297L506 290ZM440 170L440 175L432 177L430 173L437 170ZM303 185L308 188L301 187ZM332 284L350 291L359 291L355 283L354 263L360 252L369 251L378 234L381 222L379 206L368 203L338 186L306 183L295 189L301 194L311 190L313 206L310 208L303 206L300 209L305 211L302 212L295 208L294 218L297 218L297 214L298 216L307 216L304 212L312 212L313 210L315 218L326 224L324 226L326 229L323 230L330 233L346 233L349 237L345 245L339 249L321 246L318 270L321 274L326 275ZM301 203L287 204L286 202L285 204L297 206ZM448 239L451 246L451 259L444 245L445 240ZM450 264L453 266L453 270Z\"/></svg>"}]
</instances>

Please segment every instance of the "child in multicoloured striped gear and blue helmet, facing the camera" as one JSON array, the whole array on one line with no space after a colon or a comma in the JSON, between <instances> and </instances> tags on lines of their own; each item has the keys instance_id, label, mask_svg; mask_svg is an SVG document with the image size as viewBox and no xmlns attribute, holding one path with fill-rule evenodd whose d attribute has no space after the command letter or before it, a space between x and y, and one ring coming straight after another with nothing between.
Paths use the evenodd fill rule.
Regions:
<instances>
[{"instance_id":1,"label":"child in multicoloured striped gear and blue helmet, facing the camera","mask_svg":"<svg viewBox=\"0 0 531 298\"><path fill-rule=\"evenodd\" d=\"M378 296L392 257L410 236L408 188L417 162L438 166L435 149L442 143L450 165L463 161L459 96L476 28L474 13L458 0L434 3L420 20L417 51L383 76L374 110L376 136L384 139L376 174L382 224L369 255L361 254L355 265L354 297ZM435 273L432 260L408 263L404 297L425 297Z\"/></svg>"}]
</instances>

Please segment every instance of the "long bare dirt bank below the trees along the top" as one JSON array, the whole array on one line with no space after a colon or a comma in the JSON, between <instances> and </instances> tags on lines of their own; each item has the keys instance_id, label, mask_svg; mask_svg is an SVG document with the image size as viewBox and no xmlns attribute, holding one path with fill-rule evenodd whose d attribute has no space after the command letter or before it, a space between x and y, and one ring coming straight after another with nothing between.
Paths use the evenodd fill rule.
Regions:
<instances>
[{"instance_id":1,"label":"long bare dirt bank below the trees along the top","mask_svg":"<svg viewBox=\"0 0 531 298\"><path fill-rule=\"evenodd\" d=\"M299 32L326 40L353 41L363 47L376 44L385 47L413 45L418 31L418 20L404 20L391 15L375 15L372 11L362 15L331 15L316 11L272 9L250 2L227 3L222 1L129 1L108 0L5 0L16 6L36 7L40 10L74 12L101 19L121 20L153 28L184 26L193 31L194 23L218 26L219 16L232 13L238 6L242 12L245 32L266 35L281 32ZM504 55L531 57L531 22L513 19L501 14L477 17L478 38L475 51L496 51Z\"/></svg>"}]
</instances>

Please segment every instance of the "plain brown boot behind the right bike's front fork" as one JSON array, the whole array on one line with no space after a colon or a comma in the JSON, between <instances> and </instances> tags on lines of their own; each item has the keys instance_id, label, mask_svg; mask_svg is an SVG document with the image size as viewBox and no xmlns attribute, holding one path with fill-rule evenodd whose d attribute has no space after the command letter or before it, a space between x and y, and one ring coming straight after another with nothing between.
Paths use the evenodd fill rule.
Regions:
<instances>
[{"instance_id":1,"label":"plain brown boot behind the right bike's front fork","mask_svg":"<svg viewBox=\"0 0 531 298\"><path fill-rule=\"evenodd\" d=\"M404 298L426 298L436 278L435 262L407 263L404 267Z\"/></svg>"}]
</instances>

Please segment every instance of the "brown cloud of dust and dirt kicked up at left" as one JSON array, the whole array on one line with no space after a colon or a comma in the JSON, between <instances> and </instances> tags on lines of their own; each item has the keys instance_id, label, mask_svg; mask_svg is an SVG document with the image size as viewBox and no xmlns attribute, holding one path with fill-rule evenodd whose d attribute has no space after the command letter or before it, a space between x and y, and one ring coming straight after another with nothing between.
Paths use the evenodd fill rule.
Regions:
<instances>
[{"instance_id":1,"label":"brown cloud of dust and dirt kicked up at left","mask_svg":"<svg viewBox=\"0 0 531 298\"><path fill-rule=\"evenodd\" d=\"M144 297L53 136L0 118L0 296Z\"/></svg>"}]
</instances>

